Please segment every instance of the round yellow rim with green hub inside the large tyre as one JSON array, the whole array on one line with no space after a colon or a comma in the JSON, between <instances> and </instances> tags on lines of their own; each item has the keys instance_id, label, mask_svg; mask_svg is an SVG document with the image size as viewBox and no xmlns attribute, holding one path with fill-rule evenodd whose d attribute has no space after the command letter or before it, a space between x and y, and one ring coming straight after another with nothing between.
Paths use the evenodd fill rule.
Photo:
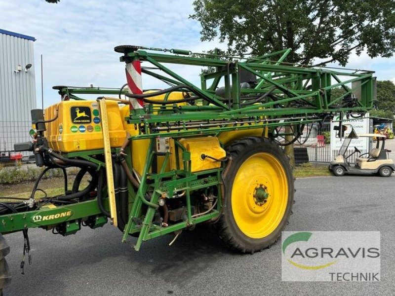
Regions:
<instances>
[{"instance_id":1,"label":"round yellow rim with green hub inside the large tyre","mask_svg":"<svg viewBox=\"0 0 395 296\"><path fill-rule=\"evenodd\" d=\"M276 157L261 152L243 162L232 186L232 212L246 236L271 234L284 216L287 201L287 177Z\"/></svg>"}]
</instances>

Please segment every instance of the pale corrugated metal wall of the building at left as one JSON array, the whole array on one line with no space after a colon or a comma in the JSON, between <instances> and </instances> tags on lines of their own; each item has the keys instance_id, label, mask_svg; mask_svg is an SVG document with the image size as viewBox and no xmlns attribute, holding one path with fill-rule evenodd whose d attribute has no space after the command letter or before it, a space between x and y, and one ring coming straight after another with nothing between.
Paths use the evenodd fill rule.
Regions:
<instances>
[{"instance_id":1,"label":"pale corrugated metal wall of the building at left","mask_svg":"<svg viewBox=\"0 0 395 296\"><path fill-rule=\"evenodd\" d=\"M30 110L37 106L33 42L0 33L0 151L29 140ZM14 72L18 65L22 71Z\"/></svg>"}]
</instances>

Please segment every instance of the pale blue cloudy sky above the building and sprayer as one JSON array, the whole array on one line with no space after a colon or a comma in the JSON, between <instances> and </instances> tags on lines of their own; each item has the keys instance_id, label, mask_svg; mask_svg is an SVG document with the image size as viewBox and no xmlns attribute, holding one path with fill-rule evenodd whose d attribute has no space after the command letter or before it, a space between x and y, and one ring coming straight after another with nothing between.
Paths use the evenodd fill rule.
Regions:
<instances>
[{"instance_id":1,"label":"pale blue cloudy sky above the building and sprayer","mask_svg":"<svg viewBox=\"0 0 395 296\"><path fill-rule=\"evenodd\" d=\"M226 48L218 40L200 41L200 24L189 15L193 0L0 0L0 29L34 42L38 106L41 106L40 55L43 56L44 107L60 100L54 85L120 87L124 64L114 47L121 44L179 48L202 52ZM337 65L335 65L337 66ZM376 71L379 80L395 82L395 58L371 59L353 54L347 68ZM173 68L198 85L200 68ZM145 79L143 88L164 87Z\"/></svg>"}]
</instances>

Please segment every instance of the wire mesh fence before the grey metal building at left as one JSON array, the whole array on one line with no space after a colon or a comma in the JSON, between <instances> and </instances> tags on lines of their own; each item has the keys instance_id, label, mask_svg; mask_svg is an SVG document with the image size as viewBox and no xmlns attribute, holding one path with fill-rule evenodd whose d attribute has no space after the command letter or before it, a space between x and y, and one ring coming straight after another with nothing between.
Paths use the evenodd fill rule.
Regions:
<instances>
[{"instance_id":1,"label":"wire mesh fence before the grey metal building at left","mask_svg":"<svg viewBox=\"0 0 395 296\"><path fill-rule=\"evenodd\" d=\"M0 121L0 165L16 165L18 162L33 162L30 151L15 152L14 144L31 141L30 121Z\"/></svg>"}]
</instances>

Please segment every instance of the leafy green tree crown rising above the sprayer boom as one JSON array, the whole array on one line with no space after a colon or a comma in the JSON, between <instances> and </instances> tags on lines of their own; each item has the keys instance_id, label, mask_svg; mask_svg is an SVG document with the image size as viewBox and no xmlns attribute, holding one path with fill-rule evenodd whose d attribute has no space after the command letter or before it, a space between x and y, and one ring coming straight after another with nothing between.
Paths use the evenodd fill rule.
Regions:
<instances>
[{"instance_id":1,"label":"leafy green tree crown rising above the sprayer boom","mask_svg":"<svg viewBox=\"0 0 395 296\"><path fill-rule=\"evenodd\" d=\"M395 50L393 0L194 0L201 40L219 36L233 53L291 48L287 62L345 65L352 51L373 58Z\"/></svg>"}]
</instances>

